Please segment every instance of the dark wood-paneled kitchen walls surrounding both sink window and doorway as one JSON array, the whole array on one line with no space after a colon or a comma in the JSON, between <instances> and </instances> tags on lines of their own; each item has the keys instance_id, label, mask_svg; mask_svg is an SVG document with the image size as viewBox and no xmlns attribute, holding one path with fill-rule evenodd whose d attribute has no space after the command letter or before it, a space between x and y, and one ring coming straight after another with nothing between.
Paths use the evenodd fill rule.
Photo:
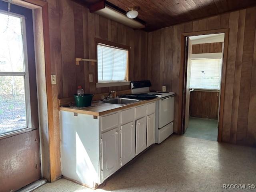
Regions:
<instances>
[{"instance_id":1,"label":"dark wood-paneled kitchen walls surrounding both sink window and doorway","mask_svg":"<svg viewBox=\"0 0 256 192\"><path fill-rule=\"evenodd\" d=\"M125 90L129 86L96 88L96 65L75 65L75 57L96 58L94 38L102 38L131 47L130 80L152 82L152 90L176 92L175 113L182 99L179 95L180 50L183 32L230 28L222 141L256 145L256 7L193 22L183 23L154 32L133 30L92 14L71 0L47 0L50 25L52 85L54 100L55 153L60 157L60 129L57 98L72 96L82 85L93 94L109 90ZM227 45L226 45L227 46ZM93 74L93 83L89 83ZM178 131L174 116L174 131ZM56 175L61 176L60 158L55 162Z\"/></svg>"}]
</instances>

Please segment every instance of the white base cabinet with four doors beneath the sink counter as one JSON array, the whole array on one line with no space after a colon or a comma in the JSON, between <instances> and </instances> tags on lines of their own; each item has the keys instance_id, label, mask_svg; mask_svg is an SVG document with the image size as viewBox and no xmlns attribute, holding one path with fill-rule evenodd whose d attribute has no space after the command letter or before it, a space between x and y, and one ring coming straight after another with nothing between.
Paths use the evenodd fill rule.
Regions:
<instances>
[{"instance_id":1,"label":"white base cabinet with four doors beneath the sink counter","mask_svg":"<svg viewBox=\"0 0 256 192\"><path fill-rule=\"evenodd\" d=\"M62 175L96 188L155 143L155 110L151 102L103 116L60 111Z\"/></svg>"}]
</instances>

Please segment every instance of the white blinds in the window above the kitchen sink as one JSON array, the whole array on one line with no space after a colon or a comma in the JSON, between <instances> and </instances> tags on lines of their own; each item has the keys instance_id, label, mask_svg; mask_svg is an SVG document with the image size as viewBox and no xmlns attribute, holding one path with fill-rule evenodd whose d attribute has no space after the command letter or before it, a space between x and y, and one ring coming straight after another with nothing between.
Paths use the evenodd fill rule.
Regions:
<instances>
[{"instance_id":1,"label":"white blinds in the window above the kitchen sink","mask_svg":"<svg viewBox=\"0 0 256 192\"><path fill-rule=\"evenodd\" d=\"M128 50L98 44L98 82L126 81Z\"/></svg>"}]
</instances>

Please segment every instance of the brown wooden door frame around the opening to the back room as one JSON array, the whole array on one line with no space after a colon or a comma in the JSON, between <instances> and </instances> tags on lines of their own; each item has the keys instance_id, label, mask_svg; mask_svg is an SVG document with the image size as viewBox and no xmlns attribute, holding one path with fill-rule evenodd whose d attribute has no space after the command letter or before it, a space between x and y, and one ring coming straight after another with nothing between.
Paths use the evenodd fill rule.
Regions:
<instances>
[{"instance_id":1,"label":"brown wooden door frame around the opening to the back room","mask_svg":"<svg viewBox=\"0 0 256 192\"><path fill-rule=\"evenodd\" d=\"M220 107L219 107L219 122L218 122L218 142L222 141L222 124L223 124L223 110L224 110L224 94L225 94L225 82L226 82L226 65L227 65L227 56L228 56L228 37L229 37L229 28L224 29L216 29L216 30L205 30L198 32L186 32L181 34L181 55L180 55L180 87L179 87L179 95L180 95L180 104L178 108L179 112L179 121L178 121L178 133L184 134L184 118L185 115L184 106L186 106L186 92L184 92L184 85L186 81L186 37L196 36L196 35L206 35L206 34L217 34L224 33L224 53L223 53L223 62L222 62L222 78L221 78L221 88L220 88Z\"/></svg>"}]
</instances>

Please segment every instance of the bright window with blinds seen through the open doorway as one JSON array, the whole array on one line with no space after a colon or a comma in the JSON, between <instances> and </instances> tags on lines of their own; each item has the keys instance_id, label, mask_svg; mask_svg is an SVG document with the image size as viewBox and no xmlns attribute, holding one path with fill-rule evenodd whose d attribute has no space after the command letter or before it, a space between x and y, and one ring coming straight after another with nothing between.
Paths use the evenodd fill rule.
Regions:
<instances>
[{"instance_id":1,"label":"bright window with blinds seen through the open doorway","mask_svg":"<svg viewBox=\"0 0 256 192\"><path fill-rule=\"evenodd\" d=\"M192 59L190 88L220 89L221 58Z\"/></svg>"}]
</instances>

